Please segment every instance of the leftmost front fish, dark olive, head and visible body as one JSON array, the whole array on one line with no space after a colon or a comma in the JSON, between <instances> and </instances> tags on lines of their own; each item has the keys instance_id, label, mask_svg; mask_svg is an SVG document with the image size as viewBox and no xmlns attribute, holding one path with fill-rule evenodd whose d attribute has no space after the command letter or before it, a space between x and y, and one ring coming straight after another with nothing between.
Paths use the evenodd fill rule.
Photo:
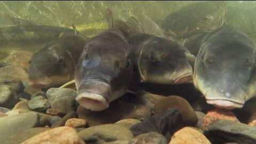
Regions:
<instances>
[{"instance_id":1,"label":"leftmost front fish, dark olive, head and visible body","mask_svg":"<svg viewBox=\"0 0 256 144\"><path fill-rule=\"evenodd\" d=\"M45 44L29 61L29 84L47 89L74 79L77 61L87 41L89 38L73 34Z\"/></svg>"}]
</instances>

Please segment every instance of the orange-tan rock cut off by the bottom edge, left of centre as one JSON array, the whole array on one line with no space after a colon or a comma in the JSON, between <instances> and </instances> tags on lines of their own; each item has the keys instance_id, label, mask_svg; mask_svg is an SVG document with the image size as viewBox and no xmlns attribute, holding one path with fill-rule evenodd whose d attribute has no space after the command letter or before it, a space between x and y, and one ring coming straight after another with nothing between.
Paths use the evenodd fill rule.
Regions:
<instances>
[{"instance_id":1,"label":"orange-tan rock cut off by the bottom edge, left of centre","mask_svg":"<svg viewBox=\"0 0 256 144\"><path fill-rule=\"evenodd\" d=\"M62 126L39 133L21 144L30 143L79 144L79 137L72 127Z\"/></svg>"}]
</instances>

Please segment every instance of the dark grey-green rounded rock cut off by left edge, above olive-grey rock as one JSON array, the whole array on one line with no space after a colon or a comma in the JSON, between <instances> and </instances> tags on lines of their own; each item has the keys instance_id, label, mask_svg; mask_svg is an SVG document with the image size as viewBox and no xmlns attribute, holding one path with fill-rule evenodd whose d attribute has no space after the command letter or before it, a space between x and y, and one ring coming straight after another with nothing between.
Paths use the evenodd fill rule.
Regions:
<instances>
[{"instance_id":1,"label":"dark grey-green rounded rock cut off by left edge, above olive-grey rock","mask_svg":"<svg viewBox=\"0 0 256 144\"><path fill-rule=\"evenodd\" d=\"M9 85L0 85L0 107L13 108L19 102L18 95Z\"/></svg>"}]
</instances>

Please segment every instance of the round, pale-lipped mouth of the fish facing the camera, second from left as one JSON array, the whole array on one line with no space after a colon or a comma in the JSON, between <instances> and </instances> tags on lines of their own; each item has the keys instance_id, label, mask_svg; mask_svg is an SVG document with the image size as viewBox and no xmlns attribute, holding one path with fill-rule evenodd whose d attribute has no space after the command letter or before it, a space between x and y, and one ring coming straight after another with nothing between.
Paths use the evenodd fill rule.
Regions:
<instances>
[{"instance_id":1,"label":"round, pale-lipped mouth of the fish facing the camera, second from left","mask_svg":"<svg viewBox=\"0 0 256 144\"><path fill-rule=\"evenodd\" d=\"M109 107L109 103L102 95L92 92L84 91L79 93L76 101L82 107L92 111L101 111Z\"/></svg>"}]
</instances>

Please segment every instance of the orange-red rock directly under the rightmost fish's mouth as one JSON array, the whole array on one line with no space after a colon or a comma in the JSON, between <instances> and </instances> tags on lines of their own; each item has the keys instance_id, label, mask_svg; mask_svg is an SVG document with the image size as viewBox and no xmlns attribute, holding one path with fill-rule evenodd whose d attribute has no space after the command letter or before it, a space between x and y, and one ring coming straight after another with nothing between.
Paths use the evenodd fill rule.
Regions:
<instances>
[{"instance_id":1,"label":"orange-red rock directly under the rightmost fish's mouth","mask_svg":"<svg viewBox=\"0 0 256 144\"><path fill-rule=\"evenodd\" d=\"M236 116L230 110L215 108L208 111L208 113L204 116L203 127L206 127L210 123L219 119L228 119L230 121L239 122Z\"/></svg>"}]
</instances>

